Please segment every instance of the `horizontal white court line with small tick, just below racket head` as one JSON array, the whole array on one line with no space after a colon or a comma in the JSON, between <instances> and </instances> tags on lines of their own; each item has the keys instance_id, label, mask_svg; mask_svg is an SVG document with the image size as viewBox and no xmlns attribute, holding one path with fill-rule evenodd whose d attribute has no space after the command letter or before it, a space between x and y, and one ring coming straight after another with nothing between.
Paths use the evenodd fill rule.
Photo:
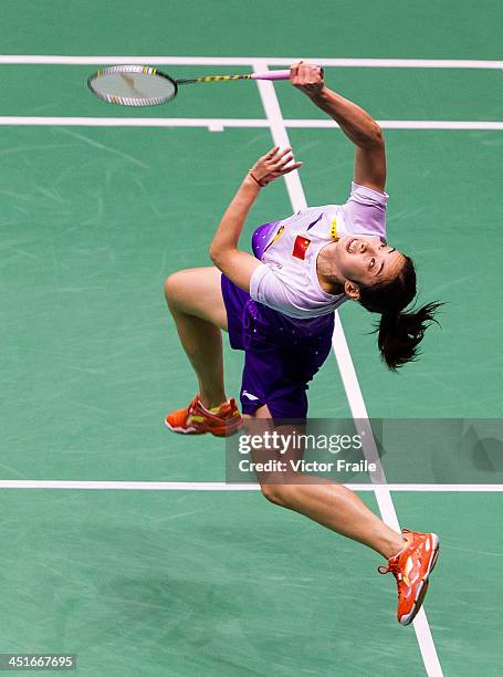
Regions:
<instances>
[{"instance_id":1,"label":"horizontal white court line with small tick, just below racket head","mask_svg":"<svg viewBox=\"0 0 503 677\"><path fill-rule=\"evenodd\" d=\"M496 129L503 131L497 121L447 121L447 119L378 119L383 129ZM0 116L0 126L76 126L76 127L208 127L223 132L226 127L269 128L266 119L218 118L218 117L50 117L30 115ZM338 129L331 119L284 119L285 127L296 129Z\"/></svg>"}]
</instances>

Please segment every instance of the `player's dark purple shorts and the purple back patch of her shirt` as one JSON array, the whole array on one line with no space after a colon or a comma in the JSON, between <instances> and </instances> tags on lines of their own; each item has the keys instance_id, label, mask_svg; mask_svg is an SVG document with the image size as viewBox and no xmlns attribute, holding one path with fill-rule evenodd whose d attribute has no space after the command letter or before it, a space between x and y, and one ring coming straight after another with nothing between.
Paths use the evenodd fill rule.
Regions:
<instances>
[{"instance_id":1,"label":"player's dark purple shorts and the purple back patch of her shirt","mask_svg":"<svg viewBox=\"0 0 503 677\"><path fill-rule=\"evenodd\" d=\"M260 258L274 226L265 223L252 238ZM305 420L307 383L332 348L334 315L296 320L250 298L222 274L231 347L244 351L241 408L244 414L268 405L275 420Z\"/></svg>"}]
</instances>

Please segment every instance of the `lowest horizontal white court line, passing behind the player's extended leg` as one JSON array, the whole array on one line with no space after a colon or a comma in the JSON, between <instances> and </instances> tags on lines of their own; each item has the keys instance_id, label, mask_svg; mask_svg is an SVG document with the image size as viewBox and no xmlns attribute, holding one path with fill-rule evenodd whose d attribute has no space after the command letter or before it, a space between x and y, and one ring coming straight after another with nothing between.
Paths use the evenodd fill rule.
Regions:
<instances>
[{"instance_id":1,"label":"lowest horizontal white court line, passing behind the player's extended leg","mask_svg":"<svg viewBox=\"0 0 503 677\"><path fill-rule=\"evenodd\" d=\"M352 491L375 491L376 485L344 485ZM260 491L260 485L227 482L142 482L123 480L0 480L0 489L82 489L115 491ZM386 485L388 491L502 492L503 485Z\"/></svg>"}]
</instances>

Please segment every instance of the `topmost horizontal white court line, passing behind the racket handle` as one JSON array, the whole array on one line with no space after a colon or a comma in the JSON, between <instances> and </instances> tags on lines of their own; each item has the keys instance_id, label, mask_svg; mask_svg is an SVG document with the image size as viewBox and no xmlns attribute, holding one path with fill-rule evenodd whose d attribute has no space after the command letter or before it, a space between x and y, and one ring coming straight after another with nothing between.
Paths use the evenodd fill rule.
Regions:
<instances>
[{"instance_id":1,"label":"topmost horizontal white court line, passing behind the racket handle","mask_svg":"<svg viewBox=\"0 0 503 677\"><path fill-rule=\"evenodd\" d=\"M322 66L364 67L364 69L503 69L503 61L467 60L467 59L323 59L319 56L263 58L263 63L272 66L290 66L292 63L308 61ZM105 65L114 63L140 63L145 65L214 65L248 66L253 56L138 56L138 55L102 55L70 56L59 54L1 54L0 64L30 65Z\"/></svg>"}]
</instances>

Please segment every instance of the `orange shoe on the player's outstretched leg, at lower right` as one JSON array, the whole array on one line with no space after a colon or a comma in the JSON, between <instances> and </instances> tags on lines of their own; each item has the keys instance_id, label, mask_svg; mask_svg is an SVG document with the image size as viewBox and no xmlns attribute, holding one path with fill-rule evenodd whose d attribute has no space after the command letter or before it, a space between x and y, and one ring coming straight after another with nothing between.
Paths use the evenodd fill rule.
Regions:
<instances>
[{"instance_id":1,"label":"orange shoe on the player's outstretched leg, at lower right","mask_svg":"<svg viewBox=\"0 0 503 677\"><path fill-rule=\"evenodd\" d=\"M436 533L417 533L402 529L408 534L408 545L388 560L388 566L379 566L381 574L392 573L397 580L397 618L409 625L421 608L428 590L428 577L439 556L439 537Z\"/></svg>"}]
</instances>

